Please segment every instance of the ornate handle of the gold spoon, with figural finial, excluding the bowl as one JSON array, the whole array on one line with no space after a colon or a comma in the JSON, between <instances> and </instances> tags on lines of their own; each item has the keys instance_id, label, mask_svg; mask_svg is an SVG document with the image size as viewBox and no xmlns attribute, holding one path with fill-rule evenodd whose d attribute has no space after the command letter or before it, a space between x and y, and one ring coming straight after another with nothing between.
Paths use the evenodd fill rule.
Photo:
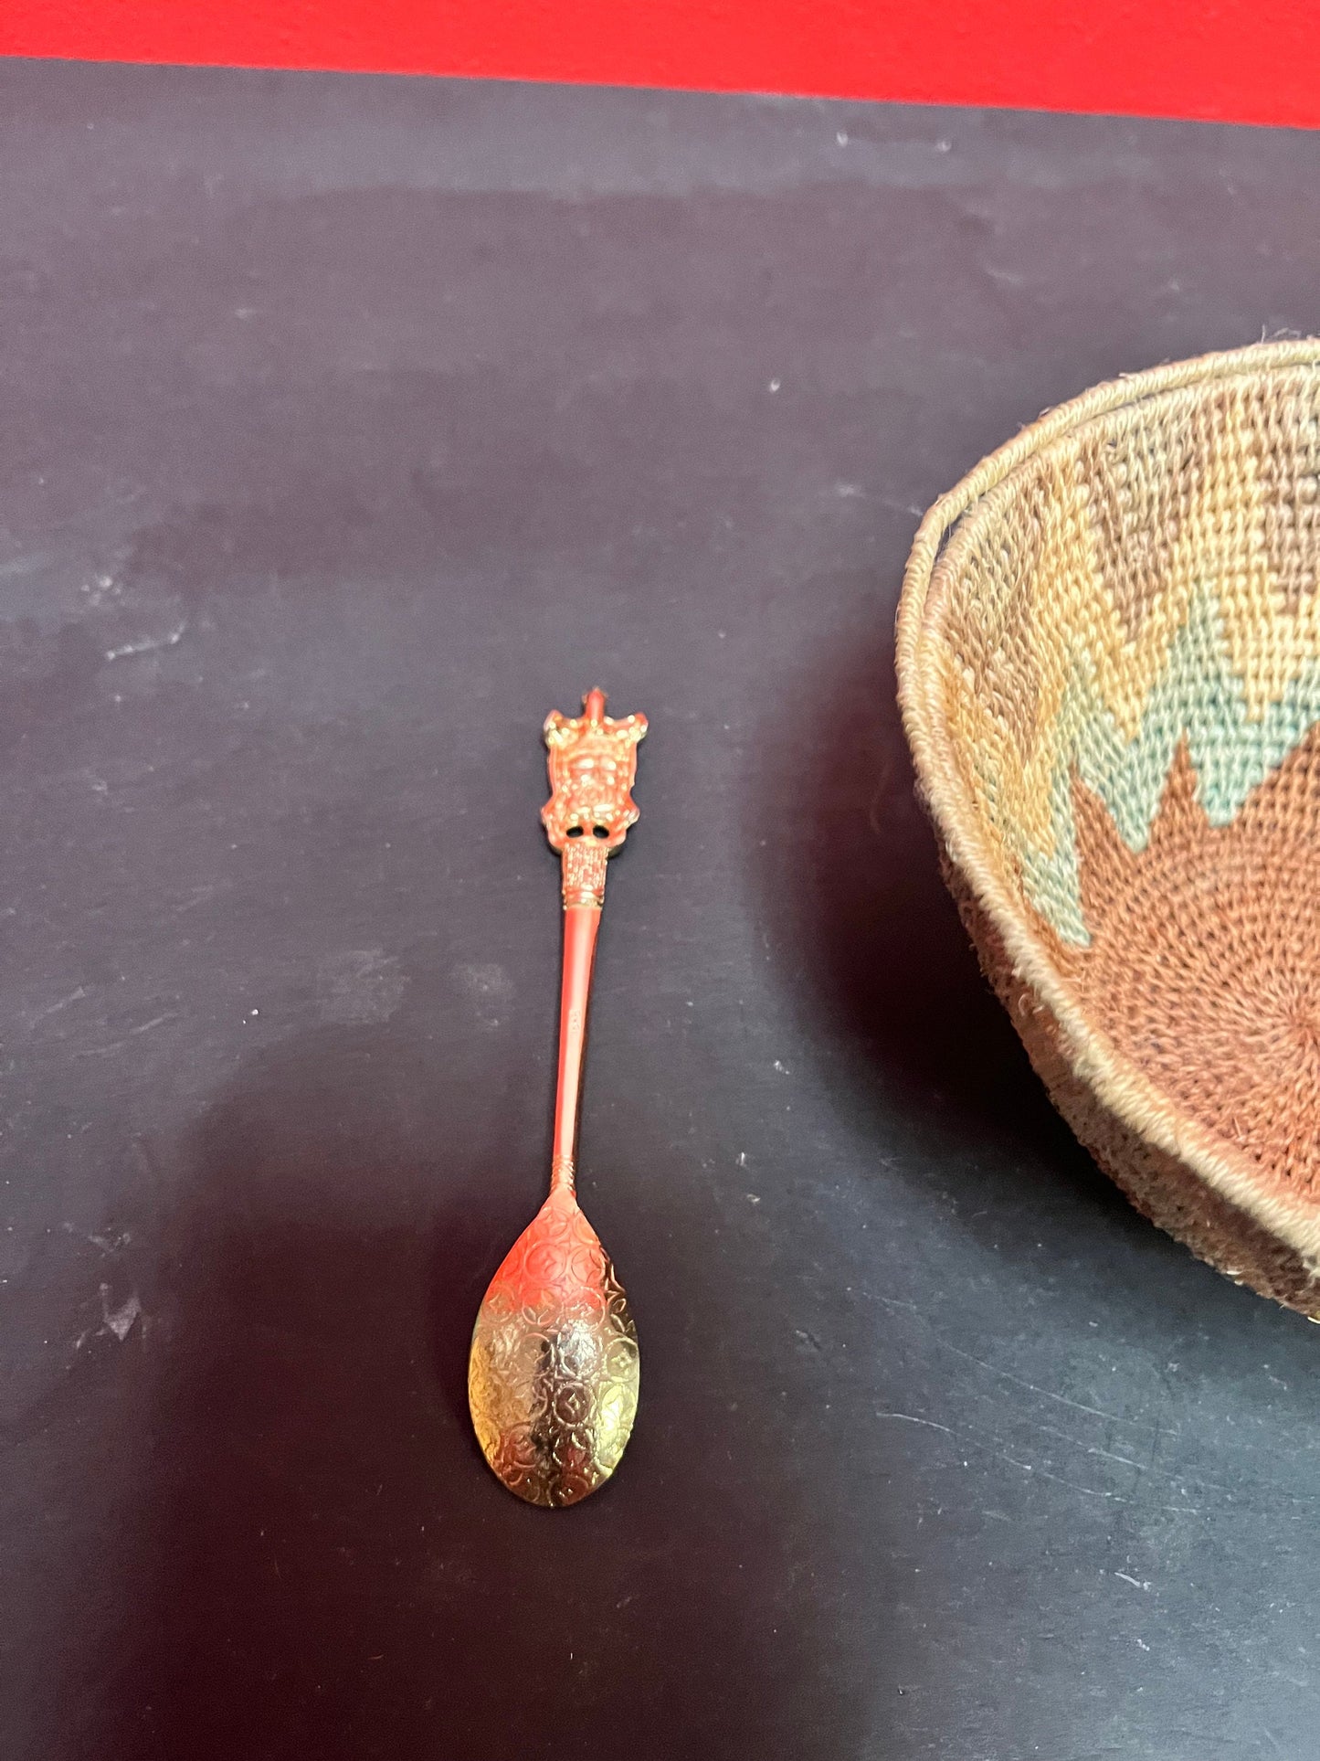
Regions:
<instances>
[{"instance_id":1,"label":"ornate handle of the gold spoon, with figural finial, excluding the bowl","mask_svg":"<svg viewBox=\"0 0 1320 1761\"><path fill-rule=\"evenodd\" d=\"M540 810L563 873L563 979L560 988L560 1078L554 1095L551 1192L574 1190L577 1115L586 1055L597 932L605 907L605 863L637 822L632 784L646 717L612 720L605 694L590 690L583 713L546 718L551 798Z\"/></svg>"}]
</instances>

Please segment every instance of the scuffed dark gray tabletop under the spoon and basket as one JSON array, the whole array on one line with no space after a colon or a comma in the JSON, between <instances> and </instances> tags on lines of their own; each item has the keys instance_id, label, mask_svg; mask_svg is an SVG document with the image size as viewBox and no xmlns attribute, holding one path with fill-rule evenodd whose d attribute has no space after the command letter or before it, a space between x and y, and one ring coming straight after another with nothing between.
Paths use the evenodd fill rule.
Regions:
<instances>
[{"instance_id":1,"label":"scuffed dark gray tabletop under the spoon and basket","mask_svg":"<svg viewBox=\"0 0 1320 1761\"><path fill-rule=\"evenodd\" d=\"M1142 1224L910 798L924 504L1320 322L1320 141L0 70L5 1757L1315 1754L1320 1342ZM482 1467L539 722L644 710L611 1488Z\"/></svg>"}]
</instances>

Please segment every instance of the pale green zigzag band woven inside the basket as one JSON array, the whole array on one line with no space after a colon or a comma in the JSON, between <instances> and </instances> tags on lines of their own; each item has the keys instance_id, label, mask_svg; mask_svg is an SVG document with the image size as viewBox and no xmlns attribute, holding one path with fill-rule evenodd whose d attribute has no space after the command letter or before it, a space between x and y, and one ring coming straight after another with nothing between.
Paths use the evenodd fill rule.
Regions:
<instances>
[{"instance_id":1,"label":"pale green zigzag band woven inside the basket","mask_svg":"<svg viewBox=\"0 0 1320 1761\"><path fill-rule=\"evenodd\" d=\"M1052 852L1012 840L1023 891L1067 942L1091 940L1082 916L1072 773L1096 794L1132 851L1144 851L1160 798L1186 736L1197 796L1213 826L1230 824L1248 794L1320 722L1320 659L1309 660L1262 717L1250 717L1243 680L1228 666L1218 597L1202 588L1169 648L1163 676L1151 690L1133 740L1125 740L1104 703L1095 662L1079 655L1060 710L1060 759L1051 778ZM996 780L980 770L982 798L996 819Z\"/></svg>"}]
</instances>

